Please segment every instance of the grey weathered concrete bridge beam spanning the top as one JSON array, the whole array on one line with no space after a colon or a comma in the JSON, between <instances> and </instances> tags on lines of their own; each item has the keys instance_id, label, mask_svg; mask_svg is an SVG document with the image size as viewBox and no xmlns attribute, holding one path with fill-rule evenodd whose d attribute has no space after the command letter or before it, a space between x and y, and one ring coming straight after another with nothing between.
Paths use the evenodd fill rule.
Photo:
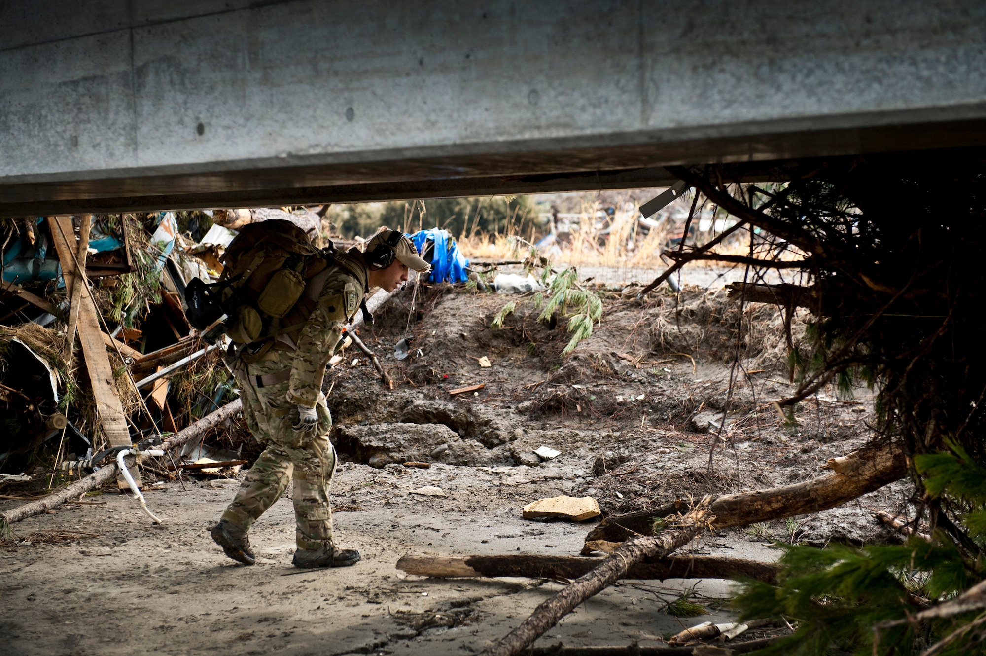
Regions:
<instances>
[{"instance_id":1,"label":"grey weathered concrete bridge beam spanning the top","mask_svg":"<svg viewBox=\"0 0 986 656\"><path fill-rule=\"evenodd\" d=\"M981 144L984 42L976 0L13 0L0 214L658 185L670 163Z\"/></svg>"}]
</instances>

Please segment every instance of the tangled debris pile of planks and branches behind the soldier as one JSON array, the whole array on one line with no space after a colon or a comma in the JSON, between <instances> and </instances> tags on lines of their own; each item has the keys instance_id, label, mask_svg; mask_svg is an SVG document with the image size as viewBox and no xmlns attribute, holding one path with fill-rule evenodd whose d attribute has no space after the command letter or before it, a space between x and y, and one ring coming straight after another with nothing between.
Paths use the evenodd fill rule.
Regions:
<instances>
[{"instance_id":1,"label":"tangled debris pile of planks and branches behind the soldier","mask_svg":"<svg viewBox=\"0 0 986 656\"><path fill-rule=\"evenodd\" d=\"M321 214L319 214L321 212ZM225 339L203 339L185 288L223 271L250 223L291 221L331 244L322 208L0 220L0 485L51 488L107 449L177 433L238 397ZM337 240L336 248L354 242ZM80 284L81 282L81 284ZM232 417L141 476L235 473L259 453ZM105 458L104 465L110 459Z\"/></svg>"}]
</instances>

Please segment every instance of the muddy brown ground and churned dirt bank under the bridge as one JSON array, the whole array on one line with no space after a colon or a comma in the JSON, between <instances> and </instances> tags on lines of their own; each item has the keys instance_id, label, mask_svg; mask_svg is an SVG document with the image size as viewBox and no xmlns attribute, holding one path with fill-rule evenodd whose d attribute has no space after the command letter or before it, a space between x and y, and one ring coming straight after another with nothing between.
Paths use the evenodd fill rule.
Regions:
<instances>
[{"instance_id":1,"label":"muddy brown ground and churned dirt bank under the bridge","mask_svg":"<svg viewBox=\"0 0 986 656\"><path fill-rule=\"evenodd\" d=\"M408 289L361 329L397 385L382 387L355 350L325 382L332 439L345 460L333 481L335 533L339 546L362 552L356 566L294 569L288 498L251 533L258 564L227 559L207 531L236 492L234 474L151 486L147 499L161 526L129 495L106 488L85 505L13 527L17 537L0 548L0 653L479 651L562 583L410 576L394 567L401 555L578 554L594 520L524 521L521 508L570 494L596 497L603 512L625 511L797 482L872 435L865 389L852 400L819 395L800 406L796 424L781 420L770 401L794 388L774 309L747 309L738 343L740 313L722 290L655 294L646 304L600 293L602 325L565 357L565 320L540 324L529 303L503 329L488 328L504 303L523 297ZM800 326L796 320L796 340ZM408 335L411 355L394 359L393 345ZM479 366L483 356L489 368ZM479 383L476 393L449 394ZM726 409L726 440L710 470ZM540 446L561 455L542 462L533 454ZM433 465L402 466L410 460ZM425 485L445 496L412 492ZM706 535L685 551L773 559L775 540L895 540L871 513L902 507L905 496L903 485L891 485L824 513ZM44 533L52 531L62 533ZM730 585L624 581L536 645L660 644L683 626L729 617ZM711 615L669 614L669 602L690 588Z\"/></svg>"}]
</instances>

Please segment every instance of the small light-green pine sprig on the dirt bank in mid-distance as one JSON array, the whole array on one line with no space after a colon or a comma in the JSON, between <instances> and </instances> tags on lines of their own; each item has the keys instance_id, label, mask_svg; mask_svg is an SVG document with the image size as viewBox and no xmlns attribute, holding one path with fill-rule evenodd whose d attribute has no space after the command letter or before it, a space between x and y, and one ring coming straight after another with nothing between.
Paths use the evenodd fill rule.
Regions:
<instances>
[{"instance_id":1,"label":"small light-green pine sprig on the dirt bank in mid-distance","mask_svg":"<svg viewBox=\"0 0 986 656\"><path fill-rule=\"evenodd\" d=\"M550 322L556 312L568 317L567 330L572 333L572 338L562 350L562 355L568 355L580 341L588 339L593 334L593 326L602 319L602 301L595 292L579 284L579 274L574 266L556 275L547 292L537 292L521 302L529 302L534 309L539 309L541 313L537 321L543 324ZM493 317L490 328L503 328L504 320L517 311L517 306L517 301L505 305Z\"/></svg>"}]
</instances>

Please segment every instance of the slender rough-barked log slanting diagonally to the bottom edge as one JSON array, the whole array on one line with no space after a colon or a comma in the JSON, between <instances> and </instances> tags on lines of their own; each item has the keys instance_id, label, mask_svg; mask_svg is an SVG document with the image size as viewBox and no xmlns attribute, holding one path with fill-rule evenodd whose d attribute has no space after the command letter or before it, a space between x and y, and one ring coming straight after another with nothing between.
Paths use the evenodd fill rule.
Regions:
<instances>
[{"instance_id":1,"label":"slender rough-barked log slanting diagonally to the bottom edge","mask_svg":"<svg viewBox=\"0 0 986 656\"><path fill-rule=\"evenodd\" d=\"M538 605L520 626L484 649L483 656L513 656L520 653L576 606L623 578L630 567L644 558L662 558L683 547L713 519L709 513L709 497L705 497L694 510L669 525L660 535L627 540L588 574L580 576Z\"/></svg>"}]
</instances>

